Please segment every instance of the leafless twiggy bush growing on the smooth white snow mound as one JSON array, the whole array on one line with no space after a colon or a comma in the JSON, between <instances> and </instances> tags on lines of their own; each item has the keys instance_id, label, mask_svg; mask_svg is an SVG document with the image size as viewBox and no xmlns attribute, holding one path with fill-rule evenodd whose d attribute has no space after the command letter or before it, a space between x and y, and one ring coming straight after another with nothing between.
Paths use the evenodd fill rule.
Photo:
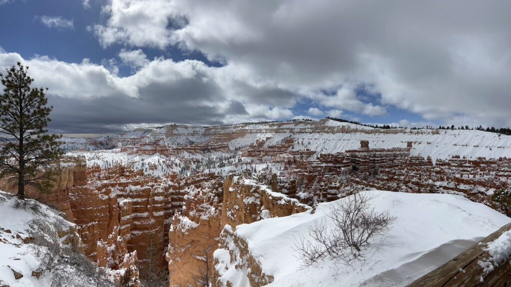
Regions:
<instances>
[{"instance_id":1,"label":"leafless twiggy bush growing on the smooth white snow mound","mask_svg":"<svg viewBox=\"0 0 511 287\"><path fill-rule=\"evenodd\" d=\"M367 253L371 239L386 237L396 217L388 210L376 212L370 206L373 199L366 194L354 194L331 207L330 225L326 218L316 220L309 227L311 240L300 236L294 246L303 266L327 257L351 265L353 260Z\"/></svg>"}]
</instances>

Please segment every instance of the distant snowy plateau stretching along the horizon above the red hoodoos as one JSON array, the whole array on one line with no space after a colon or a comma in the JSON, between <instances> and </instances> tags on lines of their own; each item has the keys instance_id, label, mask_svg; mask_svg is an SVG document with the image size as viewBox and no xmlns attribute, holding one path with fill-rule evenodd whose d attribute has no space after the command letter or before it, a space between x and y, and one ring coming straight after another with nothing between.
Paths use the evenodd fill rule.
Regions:
<instances>
[{"instance_id":1,"label":"distant snowy plateau stretching along the horizon above the red hoodoos","mask_svg":"<svg viewBox=\"0 0 511 287\"><path fill-rule=\"evenodd\" d=\"M215 137L230 137L227 146L230 151L188 153L165 157L159 154L130 156L119 149L101 150L106 147L120 147L124 144L158 143L170 149L179 146L193 146L196 143L210 142L215 146ZM330 154L360 148L360 141L367 140L370 149L405 148L411 141L411 155L430 156L436 159L449 159L452 156L467 158L511 157L511 136L478 130L409 130L409 129L374 129L350 123L340 123L330 119L319 122L289 122L266 124L239 124L222 127L170 126L162 128L137 129L123 134L103 135L97 138L66 137L62 147L70 155L83 155L87 165L99 165L107 168L114 164L134 165L146 174L161 176L166 173L180 172L183 158L204 162L221 157L228 158L235 151L248 147L258 140L265 140L264 147L280 145L284 139L293 138L290 150L311 150L318 154ZM126 141L128 140L128 141ZM131 141L133 140L133 142ZM83 152L86 150L88 152ZM143 153L143 151L141 151ZM237 161L233 161L236 163ZM151 167L152 166L152 167ZM213 172L228 173L239 169L239 165L221 168L203 166L197 168L212 169Z\"/></svg>"}]
</instances>

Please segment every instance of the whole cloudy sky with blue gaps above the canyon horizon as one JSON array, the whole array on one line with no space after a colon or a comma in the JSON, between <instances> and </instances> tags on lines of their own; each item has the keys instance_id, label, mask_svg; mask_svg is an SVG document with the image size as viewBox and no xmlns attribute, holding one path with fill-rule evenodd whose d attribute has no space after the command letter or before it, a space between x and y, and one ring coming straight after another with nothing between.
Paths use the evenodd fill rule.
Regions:
<instances>
[{"instance_id":1,"label":"whole cloudy sky with blue gaps above the canyon horizon","mask_svg":"<svg viewBox=\"0 0 511 287\"><path fill-rule=\"evenodd\" d=\"M511 2L0 0L50 130L325 116L511 126Z\"/></svg>"}]
</instances>

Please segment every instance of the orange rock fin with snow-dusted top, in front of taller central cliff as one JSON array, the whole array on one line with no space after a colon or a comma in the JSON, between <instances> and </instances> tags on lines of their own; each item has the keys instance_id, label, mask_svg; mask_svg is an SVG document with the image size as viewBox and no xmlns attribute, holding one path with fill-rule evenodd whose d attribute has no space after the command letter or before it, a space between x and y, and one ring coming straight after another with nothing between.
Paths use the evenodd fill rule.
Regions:
<instances>
[{"instance_id":1,"label":"orange rock fin with snow-dusted top, in front of taller central cliff","mask_svg":"<svg viewBox=\"0 0 511 287\"><path fill-rule=\"evenodd\" d=\"M213 252L222 230L222 181L205 181L185 189L185 205L176 212L169 231L169 279L171 286L195 285L211 277Z\"/></svg>"}]
</instances>

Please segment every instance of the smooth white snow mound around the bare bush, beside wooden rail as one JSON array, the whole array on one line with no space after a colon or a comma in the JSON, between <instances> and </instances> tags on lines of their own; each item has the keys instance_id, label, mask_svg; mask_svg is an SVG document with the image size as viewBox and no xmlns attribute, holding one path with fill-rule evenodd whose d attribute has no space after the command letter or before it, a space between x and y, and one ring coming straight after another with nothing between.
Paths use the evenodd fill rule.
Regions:
<instances>
[{"instance_id":1,"label":"smooth white snow mound around the bare bush, beside wooden rail","mask_svg":"<svg viewBox=\"0 0 511 287\"><path fill-rule=\"evenodd\" d=\"M371 190L376 211L390 210L396 221L385 241L376 238L363 260L353 266L326 259L300 268L293 246L299 235L308 238L308 228L324 219L336 201L321 203L311 211L238 225L236 235L248 243L251 256L262 271L274 277L269 286L404 286L442 265L480 238L511 222L511 218L464 197L443 194L408 194ZM349 200L349 197L340 201ZM231 245L231 251L236 253ZM249 286L247 269L236 269L229 251L218 249L216 269L221 280ZM239 263L239 262L238 262Z\"/></svg>"}]
</instances>

